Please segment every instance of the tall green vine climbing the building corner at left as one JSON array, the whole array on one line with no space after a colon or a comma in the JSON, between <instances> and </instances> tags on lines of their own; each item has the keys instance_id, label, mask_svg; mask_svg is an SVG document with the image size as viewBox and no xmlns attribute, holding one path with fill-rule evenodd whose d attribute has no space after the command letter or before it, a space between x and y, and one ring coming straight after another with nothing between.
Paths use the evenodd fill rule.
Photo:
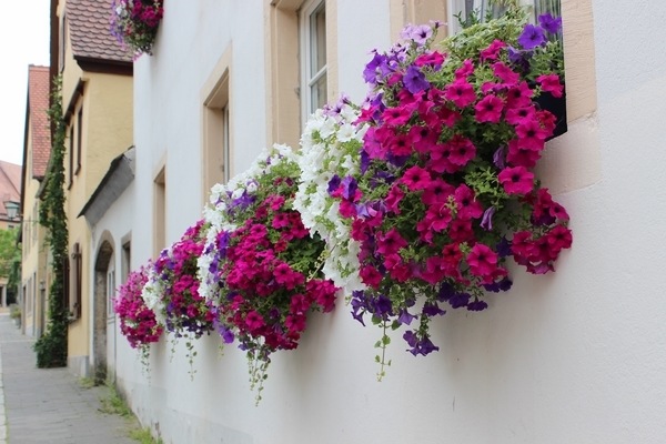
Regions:
<instances>
[{"instance_id":1,"label":"tall green vine climbing the building corner at left","mask_svg":"<svg viewBox=\"0 0 666 444\"><path fill-rule=\"evenodd\" d=\"M67 270L68 229L64 213L64 150L65 122L62 113L62 80L53 81L51 108L48 111L52 129L51 159L44 178L44 191L39 222L48 230L52 255L51 287L49 289L49 323L36 342L37 366L67 365L68 311L64 292Z\"/></svg>"}]
</instances>

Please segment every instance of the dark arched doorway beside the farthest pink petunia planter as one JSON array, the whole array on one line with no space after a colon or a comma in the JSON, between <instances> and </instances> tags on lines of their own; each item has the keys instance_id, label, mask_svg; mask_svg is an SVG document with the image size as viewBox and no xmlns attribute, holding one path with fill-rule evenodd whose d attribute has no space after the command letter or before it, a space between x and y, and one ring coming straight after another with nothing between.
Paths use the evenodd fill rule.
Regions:
<instances>
[{"instance_id":1,"label":"dark arched doorway beside the farthest pink petunia planter","mask_svg":"<svg viewBox=\"0 0 666 444\"><path fill-rule=\"evenodd\" d=\"M110 310L110 295L115 290L115 264L113 240L105 232L102 235L94 263L94 301L92 322L92 359L95 383L107 380L107 319Z\"/></svg>"}]
</instances>

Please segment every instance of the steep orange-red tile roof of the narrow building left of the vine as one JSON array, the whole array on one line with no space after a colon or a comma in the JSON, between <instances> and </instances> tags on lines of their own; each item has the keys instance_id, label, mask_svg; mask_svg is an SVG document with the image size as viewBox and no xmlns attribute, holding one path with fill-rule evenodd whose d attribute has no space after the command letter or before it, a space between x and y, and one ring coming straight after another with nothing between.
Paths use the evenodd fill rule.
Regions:
<instances>
[{"instance_id":1,"label":"steep orange-red tile roof of the narrow building left of the vine","mask_svg":"<svg viewBox=\"0 0 666 444\"><path fill-rule=\"evenodd\" d=\"M49 67L30 65L28 69L28 112L32 138L32 172L34 179L42 179L51 154L51 131L49 130Z\"/></svg>"}]
</instances>

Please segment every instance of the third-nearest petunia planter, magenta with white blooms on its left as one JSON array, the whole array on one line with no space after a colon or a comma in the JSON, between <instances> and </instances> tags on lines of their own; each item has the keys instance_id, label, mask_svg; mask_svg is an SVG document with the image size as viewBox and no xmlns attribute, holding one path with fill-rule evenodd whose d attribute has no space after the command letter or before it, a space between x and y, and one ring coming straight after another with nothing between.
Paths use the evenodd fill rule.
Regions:
<instances>
[{"instance_id":1,"label":"third-nearest petunia planter, magenta with white blooms on its left","mask_svg":"<svg viewBox=\"0 0 666 444\"><path fill-rule=\"evenodd\" d=\"M214 330L214 311L199 293L198 258L203 251L204 221L190 226L183 236L164 249L155 260L152 273L143 287L147 305L163 320L175 337L186 336L188 356L192 364L192 339Z\"/></svg>"}]
</instances>

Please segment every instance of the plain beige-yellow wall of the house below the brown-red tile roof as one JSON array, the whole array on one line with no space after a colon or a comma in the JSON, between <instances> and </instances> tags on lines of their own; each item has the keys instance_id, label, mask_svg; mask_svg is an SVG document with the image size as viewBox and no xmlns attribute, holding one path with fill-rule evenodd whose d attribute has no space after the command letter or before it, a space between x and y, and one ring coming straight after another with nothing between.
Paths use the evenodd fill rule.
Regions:
<instances>
[{"instance_id":1,"label":"plain beige-yellow wall of the house below the brown-red tile roof","mask_svg":"<svg viewBox=\"0 0 666 444\"><path fill-rule=\"evenodd\" d=\"M69 39L68 39L69 42ZM69 327L69 360L75 373L88 372L88 356L91 354L92 295L90 280L91 233L84 218L79 213L100 184L111 161L132 145L132 77L83 72L75 63L71 47L65 49L62 72L63 110L72 110L70 124L78 124L77 114L83 107L81 169L69 186L69 131L64 157L65 167L65 213L68 214L69 253L74 243L82 252L81 269L81 316ZM83 84L82 94L77 89ZM74 130L74 137L78 131ZM74 144L75 147L75 144ZM74 169L77 161L74 160ZM73 284L73 283L71 283Z\"/></svg>"}]
</instances>

